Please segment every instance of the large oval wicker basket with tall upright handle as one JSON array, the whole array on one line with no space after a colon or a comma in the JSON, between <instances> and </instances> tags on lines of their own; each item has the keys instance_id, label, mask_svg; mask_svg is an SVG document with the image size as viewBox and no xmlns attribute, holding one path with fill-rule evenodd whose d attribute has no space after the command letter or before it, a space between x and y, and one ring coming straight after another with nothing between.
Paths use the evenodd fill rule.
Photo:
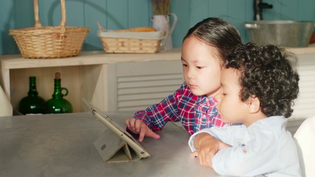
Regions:
<instances>
[{"instance_id":1,"label":"large oval wicker basket with tall upright handle","mask_svg":"<svg viewBox=\"0 0 315 177\"><path fill-rule=\"evenodd\" d=\"M80 54L87 27L65 26L65 2L61 0L62 20L58 27L42 27L38 17L38 1L34 0L35 27L10 29L24 58L63 58Z\"/></svg>"}]
</instances>

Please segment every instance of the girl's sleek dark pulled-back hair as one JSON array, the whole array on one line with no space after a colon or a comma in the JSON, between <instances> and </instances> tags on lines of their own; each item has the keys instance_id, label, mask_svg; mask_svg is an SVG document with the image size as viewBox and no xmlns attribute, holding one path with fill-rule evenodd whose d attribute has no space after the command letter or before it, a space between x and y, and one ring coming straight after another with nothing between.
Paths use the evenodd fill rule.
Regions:
<instances>
[{"instance_id":1,"label":"girl's sleek dark pulled-back hair","mask_svg":"<svg viewBox=\"0 0 315 177\"><path fill-rule=\"evenodd\" d=\"M217 55L225 61L227 55L238 44L242 44L239 31L232 24L217 17L210 17L190 28L183 39L194 36L217 49Z\"/></svg>"}]
</instances>

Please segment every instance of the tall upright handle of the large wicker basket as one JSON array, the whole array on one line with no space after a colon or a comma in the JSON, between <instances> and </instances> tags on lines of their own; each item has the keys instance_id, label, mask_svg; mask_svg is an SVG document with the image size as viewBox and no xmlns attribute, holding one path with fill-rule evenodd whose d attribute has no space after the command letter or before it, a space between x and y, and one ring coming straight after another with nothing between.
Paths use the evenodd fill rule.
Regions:
<instances>
[{"instance_id":1,"label":"tall upright handle of the large wicker basket","mask_svg":"<svg viewBox=\"0 0 315 177\"><path fill-rule=\"evenodd\" d=\"M63 36L65 33L65 19L66 19L64 0L60 0L60 4L61 4L61 22L59 26L61 30L60 36ZM38 15L38 0L34 0L34 18L35 18L35 27L42 28L42 25L39 20L39 15Z\"/></svg>"}]
</instances>

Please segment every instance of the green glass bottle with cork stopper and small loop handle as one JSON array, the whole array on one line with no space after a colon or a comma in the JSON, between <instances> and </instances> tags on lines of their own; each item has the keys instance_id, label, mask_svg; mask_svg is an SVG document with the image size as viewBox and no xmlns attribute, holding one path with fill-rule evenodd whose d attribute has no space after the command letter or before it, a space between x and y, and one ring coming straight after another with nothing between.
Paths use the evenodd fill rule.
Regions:
<instances>
[{"instance_id":1,"label":"green glass bottle with cork stopper and small loop handle","mask_svg":"<svg viewBox=\"0 0 315 177\"><path fill-rule=\"evenodd\" d=\"M65 90L65 94L62 93ZM68 89L61 87L60 73L55 74L55 90L53 93L53 98L49 99L44 104L45 114L60 114L60 113L72 113L71 103L64 99L63 96L68 94Z\"/></svg>"}]
</instances>

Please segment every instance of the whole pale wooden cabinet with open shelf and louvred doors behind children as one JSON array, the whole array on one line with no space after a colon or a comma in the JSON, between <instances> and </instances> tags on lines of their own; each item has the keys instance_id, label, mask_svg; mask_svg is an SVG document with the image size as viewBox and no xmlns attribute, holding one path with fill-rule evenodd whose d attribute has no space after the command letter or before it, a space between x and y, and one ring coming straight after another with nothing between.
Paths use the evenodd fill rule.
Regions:
<instances>
[{"instance_id":1,"label":"whole pale wooden cabinet with open shelf and louvred doors behind children","mask_svg":"<svg viewBox=\"0 0 315 177\"><path fill-rule=\"evenodd\" d=\"M315 44L288 50L298 55L300 73L301 93L292 118L306 118L315 114ZM24 59L20 55L0 55L0 85L17 110L19 101L27 95L29 76L36 76L39 95L48 100L53 93L55 72L60 72L62 87L69 90L64 98L71 102L74 112L87 111L82 97L102 111L140 109L159 102L179 88L183 81L180 78L182 68L178 66L180 58L181 48L157 54L90 51L62 59ZM157 79L160 77L165 80ZM166 82L174 85L166 86ZM160 83L165 84L162 91L154 90L157 85L162 85ZM135 85L141 88L134 88Z\"/></svg>"}]
</instances>

